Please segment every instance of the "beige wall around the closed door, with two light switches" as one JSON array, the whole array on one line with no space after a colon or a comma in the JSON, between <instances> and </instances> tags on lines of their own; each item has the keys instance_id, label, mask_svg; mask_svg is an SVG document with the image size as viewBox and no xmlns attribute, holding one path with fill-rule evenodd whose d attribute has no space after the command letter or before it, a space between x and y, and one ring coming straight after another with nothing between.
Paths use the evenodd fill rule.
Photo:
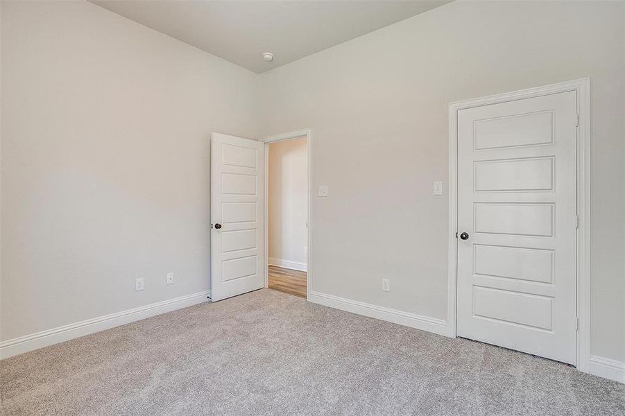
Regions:
<instances>
[{"instance_id":1,"label":"beige wall around the closed door, with two light switches","mask_svg":"<svg viewBox=\"0 0 625 416\"><path fill-rule=\"evenodd\" d=\"M590 77L591 351L625 361L624 7L459 1L262 74L262 134L311 128L329 187L311 290L446 319L447 105Z\"/></svg>"}]
</instances>

